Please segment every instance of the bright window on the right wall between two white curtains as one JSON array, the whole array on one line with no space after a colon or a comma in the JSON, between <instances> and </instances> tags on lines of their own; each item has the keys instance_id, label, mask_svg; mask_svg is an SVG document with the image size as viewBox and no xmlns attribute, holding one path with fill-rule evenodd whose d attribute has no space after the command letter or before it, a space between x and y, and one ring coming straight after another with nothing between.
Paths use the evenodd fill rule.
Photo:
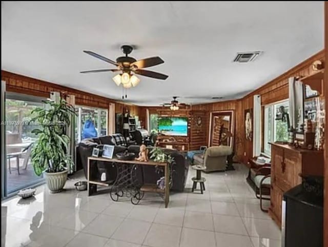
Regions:
<instances>
[{"instance_id":1,"label":"bright window on the right wall between two white curtains","mask_svg":"<svg viewBox=\"0 0 328 247\"><path fill-rule=\"evenodd\" d=\"M288 141L287 122L275 120L279 108L283 106L289 112L289 102L284 100L264 107L264 154L271 156L271 145L268 142Z\"/></svg>"}]
</instances>

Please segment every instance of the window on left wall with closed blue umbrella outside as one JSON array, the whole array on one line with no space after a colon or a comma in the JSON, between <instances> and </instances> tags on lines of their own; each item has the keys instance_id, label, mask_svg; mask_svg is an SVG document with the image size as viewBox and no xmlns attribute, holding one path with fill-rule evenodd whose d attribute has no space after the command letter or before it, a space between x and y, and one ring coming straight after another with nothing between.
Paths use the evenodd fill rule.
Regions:
<instances>
[{"instance_id":1,"label":"window on left wall with closed blue umbrella outside","mask_svg":"<svg viewBox=\"0 0 328 247\"><path fill-rule=\"evenodd\" d=\"M105 136L108 133L108 110L75 107L75 140Z\"/></svg>"}]
</instances>

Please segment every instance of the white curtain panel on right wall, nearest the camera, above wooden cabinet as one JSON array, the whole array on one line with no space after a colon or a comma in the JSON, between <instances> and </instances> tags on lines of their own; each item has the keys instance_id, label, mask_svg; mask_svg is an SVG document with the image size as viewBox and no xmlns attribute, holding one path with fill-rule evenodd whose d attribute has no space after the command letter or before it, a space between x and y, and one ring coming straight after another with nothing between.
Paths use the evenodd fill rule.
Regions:
<instances>
[{"instance_id":1,"label":"white curtain panel on right wall, nearest the camera, above wooden cabinet","mask_svg":"<svg viewBox=\"0 0 328 247\"><path fill-rule=\"evenodd\" d=\"M295 77L289 78L289 118L291 128L300 131L303 124L303 84Z\"/></svg>"}]
</instances>

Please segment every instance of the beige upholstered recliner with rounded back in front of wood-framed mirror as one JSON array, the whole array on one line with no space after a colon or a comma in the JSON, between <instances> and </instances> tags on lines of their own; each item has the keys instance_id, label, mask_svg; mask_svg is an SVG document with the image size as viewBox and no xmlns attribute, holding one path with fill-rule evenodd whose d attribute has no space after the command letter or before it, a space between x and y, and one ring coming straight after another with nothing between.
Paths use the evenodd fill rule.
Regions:
<instances>
[{"instance_id":1,"label":"beige upholstered recliner with rounded back in front of wood-framed mirror","mask_svg":"<svg viewBox=\"0 0 328 247\"><path fill-rule=\"evenodd\" d=\"M210 147L203 155L204 172L225 171L227 168L227 156L232 154L229 146ZM196 157L195 157L196 158Z\"/></svg>"}]
</instances>

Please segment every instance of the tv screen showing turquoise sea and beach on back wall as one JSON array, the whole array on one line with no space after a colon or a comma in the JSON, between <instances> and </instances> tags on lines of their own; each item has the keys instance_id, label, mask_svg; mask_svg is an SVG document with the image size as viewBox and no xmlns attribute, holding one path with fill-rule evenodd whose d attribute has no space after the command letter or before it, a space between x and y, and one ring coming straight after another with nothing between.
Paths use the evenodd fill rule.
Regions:
<instances>
[{"instance_id":1,"label":"tv screen showing turquoise sea and beach on back wall","mask_svg":"<svg viewBox=\"0 0 328 247\"><path fill-rule=\"evenodd\" d=\"M188 117L158 117L158 132L163 135L188 135Z\"/></svg>"}]
</instances>

